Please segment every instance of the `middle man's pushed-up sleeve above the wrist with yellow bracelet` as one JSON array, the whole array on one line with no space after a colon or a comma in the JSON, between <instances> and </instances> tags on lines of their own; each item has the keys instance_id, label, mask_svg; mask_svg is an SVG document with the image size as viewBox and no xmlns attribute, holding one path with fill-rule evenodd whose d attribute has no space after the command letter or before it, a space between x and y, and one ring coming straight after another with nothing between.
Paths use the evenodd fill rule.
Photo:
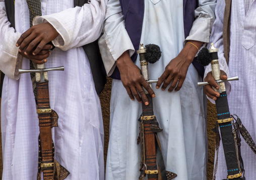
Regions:
<instances>
[{"instance_id":1,"label":"middle man's pushed-up sleeve above the wrist with yellow bracelet","mask_svg":"<svg viewBox=\"0 0 256 180\"><path fill-rule=\"evenodd\" d=\"M187 40L209 43L212 25L215 21L216 0L199 0L199 7L195 10L196 20L189 32Z\"/></svg>"}]
</instances>

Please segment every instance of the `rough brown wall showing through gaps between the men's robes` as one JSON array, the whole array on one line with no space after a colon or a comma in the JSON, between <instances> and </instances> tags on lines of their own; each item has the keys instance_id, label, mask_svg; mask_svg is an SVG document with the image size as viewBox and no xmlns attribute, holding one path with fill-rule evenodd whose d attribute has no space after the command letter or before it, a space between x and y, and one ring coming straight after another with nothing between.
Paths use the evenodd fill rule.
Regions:
<instances>
[{"instance_id":1,"label":"rough brown wall showing through gaps between the men's robes","mask_svg":"<svg viewBox=\"0 0 256 180\"><path fill-rule=\"evenodd\" d=\"M104 91L100 95L100 102L102 108L103 115L103 123L104 123L104 132L105 132L105 140L104 140L104 160L106 162L107 155L107 147L109 140L109 104L110 104L110 94L111 94L111 79L107 80L107 85L104 88ZM1 106L1 102L0 102ZM209 159L208 159L208 168L207 168L207 180L212 179L213 175L213 166L214 166L214 153L215 153L215 138L216 135L212 131L215 126L215 120L217 119L216 108L215 105L212 105L208 102L208 141L209 141ZM0 123L1 129L1 123ZM2 137L0 133L0 179L2 179L3 173L3 154L2 154Z\"/></svg>"}]
</instances>

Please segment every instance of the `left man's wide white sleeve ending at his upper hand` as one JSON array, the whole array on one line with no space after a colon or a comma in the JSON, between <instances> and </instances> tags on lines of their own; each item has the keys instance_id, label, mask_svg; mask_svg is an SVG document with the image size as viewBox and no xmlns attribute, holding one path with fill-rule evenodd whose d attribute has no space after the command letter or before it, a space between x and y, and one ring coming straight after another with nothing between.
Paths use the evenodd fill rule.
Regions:
<instances>
[{"instance_id":1,"label":"left man's wide white sleeve ending at his upper hand","mask_svg":"<svg viewBox=\"0 0 256 180\"><path fill-rule=\"evenodd\" d=\"M36 17L34 25L49 22L59 33L52 41L61 50L77 48L96 41L102 32L107 0L91 0L83 7L70 8L60 13Z\"/></svg>"}]
</instances>

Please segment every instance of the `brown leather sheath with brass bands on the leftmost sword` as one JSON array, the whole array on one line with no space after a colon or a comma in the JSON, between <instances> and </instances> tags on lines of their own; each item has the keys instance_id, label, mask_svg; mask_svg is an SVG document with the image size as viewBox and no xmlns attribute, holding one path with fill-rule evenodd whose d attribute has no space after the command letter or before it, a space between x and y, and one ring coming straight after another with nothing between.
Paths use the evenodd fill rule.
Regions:
<instances>
[{"instance_id":1,"label":"brown leather sheath with brass bands on the leftmost sword","mask_svg":"<svg viewBox=\"0 0 256 180\"><path fill-rule=\"evenodd\" d=\"M44 179L53 179L54 149L51 136L51 109L49 102L48 82L36 83L37 88L37 112L40 129L41 167ZM45 166L45 167L44 167Z\"/></svg>"}]
</instances>

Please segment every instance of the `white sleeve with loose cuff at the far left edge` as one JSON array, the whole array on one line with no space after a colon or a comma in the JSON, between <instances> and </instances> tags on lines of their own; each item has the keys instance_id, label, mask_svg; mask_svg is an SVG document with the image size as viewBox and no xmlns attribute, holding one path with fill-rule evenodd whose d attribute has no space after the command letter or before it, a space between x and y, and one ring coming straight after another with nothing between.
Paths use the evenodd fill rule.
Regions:
<instances>
[{"instance_id":1,"label":"white sleeve with loose cuff at the far left edge","mask_svg":"<svg viewBox=\"0 0 256 180\"><path fill-rule=\"evenodd\" d=\"M0 70L16 80L20 78L19 68L22 65L22 56L18 54L19 47L16 47L20 36L8 21L5 1L0 0Z\"/></svg>"}]
</instances>

